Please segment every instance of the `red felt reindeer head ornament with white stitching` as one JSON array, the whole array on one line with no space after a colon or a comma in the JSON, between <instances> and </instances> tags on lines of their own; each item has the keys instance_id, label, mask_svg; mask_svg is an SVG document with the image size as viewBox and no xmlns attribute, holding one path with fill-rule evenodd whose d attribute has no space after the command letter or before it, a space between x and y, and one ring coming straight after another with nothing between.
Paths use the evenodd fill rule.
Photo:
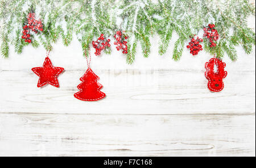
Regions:
<instances>
[{"instance_id":1,"label":"red felt reindeer head ornament with white stitching","mask_svg":"<svg viewBox=\"0 0 256 168\"><path fill-rule=\"evenodd\" d=\"M217 66L217 72L214 72L214 65ZM224 68L226 64L218 58L211 58L209 62L205 63L205 77L208 81L208 88L210 91L221 91L224 88L222 79L228 74Z\"/></svg>"}]
</instances>

